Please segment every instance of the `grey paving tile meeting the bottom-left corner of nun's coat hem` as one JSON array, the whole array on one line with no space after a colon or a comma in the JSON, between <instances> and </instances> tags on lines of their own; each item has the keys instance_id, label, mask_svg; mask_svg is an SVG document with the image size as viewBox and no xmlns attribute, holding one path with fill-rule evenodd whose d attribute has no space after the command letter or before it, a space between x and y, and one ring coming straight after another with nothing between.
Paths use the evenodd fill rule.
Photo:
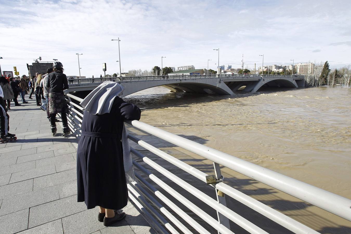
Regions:
<instances>
[{"instance_id":1,"label":"grey paving tile meeting the bottom-left corner of nun's coat hem","mask_svg":"<svg viewBox=\"0 0 351 234\"><path fill-rule=\"evenodd\" d=\"M53 212L55 210L55 212ZM51 201L30 208L28 228L35 227L68 215L86 210L84 202L77 202L77 195Z\"/></svg>"}]
</instances>

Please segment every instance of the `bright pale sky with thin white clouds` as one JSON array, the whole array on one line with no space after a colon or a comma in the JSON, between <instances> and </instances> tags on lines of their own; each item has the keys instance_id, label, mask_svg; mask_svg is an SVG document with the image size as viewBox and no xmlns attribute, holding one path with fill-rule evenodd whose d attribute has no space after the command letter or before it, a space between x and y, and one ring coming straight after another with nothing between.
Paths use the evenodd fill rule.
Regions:
<instances>
[{"instance_id":1,"label":"bright pale sky with thin white clouds","mask_svg":"<svg viewBox=\"0 0 351 234\"><path fill-rule=\"evenodd\" d=\"M42 57L58 59L67 75L119 72L121 67L221 65L245 67L326 61L351 63L349 0L0 0L2 71ZM6 13L6 14L4 14Z\"/></svg>"}]
</instances>

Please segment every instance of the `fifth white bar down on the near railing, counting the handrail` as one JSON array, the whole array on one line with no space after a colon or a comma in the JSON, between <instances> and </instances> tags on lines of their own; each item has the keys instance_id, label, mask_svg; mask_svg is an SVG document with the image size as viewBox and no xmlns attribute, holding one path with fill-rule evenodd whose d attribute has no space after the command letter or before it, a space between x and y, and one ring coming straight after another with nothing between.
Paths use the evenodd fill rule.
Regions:
<instances>
[{"instance_id":1,"label":"fifth white bar down on the near railing, counting the handrail","mask_svg":"<svg viewBox=\"0 0 351 234\"><path fill-rule=\"evenodd\" d=\"M195 228L198 232L202 234L210 234L203 226L201 226L198 222L196 222L193 218L191 218L187 213L185 213L182 209L180 209L176 204L174 204L170 199L168 199L163 193L157 190L151 183L147 182L143 177L141 177L138 173L134 173L138 178L139 182L142 183L145 187L147 187L153 194L155 194L161 201L163 201L168 207L177 212L177 214L184 221L189 223L193 228Z\"/></svg>"}]
</instances>

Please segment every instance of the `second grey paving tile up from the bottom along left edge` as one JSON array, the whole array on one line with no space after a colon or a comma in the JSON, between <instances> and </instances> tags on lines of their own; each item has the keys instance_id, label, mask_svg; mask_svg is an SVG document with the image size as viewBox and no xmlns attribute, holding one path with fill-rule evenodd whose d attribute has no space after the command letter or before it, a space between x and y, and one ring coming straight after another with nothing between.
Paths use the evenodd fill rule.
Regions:
<instances>
[{"instance_id":1,"label":"second grey paving tile up from the bottom along left edge","mask_svg":"<svg viewBox=\"0 0 351 234\"><path fill-rule=\"evenodd\" d=\"M18 210L26 209L33 206L38 206L46 202L59 199L59 191L57 186L43 188L40 190L17 194L11 197L6 197L2 201L0 215L9 214Z\"/></svg>"}]
</instances>

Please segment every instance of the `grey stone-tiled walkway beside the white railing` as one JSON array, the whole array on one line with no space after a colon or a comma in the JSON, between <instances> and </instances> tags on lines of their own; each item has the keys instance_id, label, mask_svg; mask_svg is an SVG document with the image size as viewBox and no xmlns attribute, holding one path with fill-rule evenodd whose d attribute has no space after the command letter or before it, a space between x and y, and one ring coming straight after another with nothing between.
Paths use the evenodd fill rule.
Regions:
<instances>
[{"instance_id":1,"label":"grey stone-tiled walkway beside the white railing","mask_svg":"<svg viewBox=\"0 0 351 234\"><path fill-rule=\"evenodd\" d=\"M77 202L77 140L62 137L61 123L53 137L46 113L27 101L8 111L18 139L0 144L0 233L155 233L130 202L116 227Z\"/></svg>"}]
</instances>

